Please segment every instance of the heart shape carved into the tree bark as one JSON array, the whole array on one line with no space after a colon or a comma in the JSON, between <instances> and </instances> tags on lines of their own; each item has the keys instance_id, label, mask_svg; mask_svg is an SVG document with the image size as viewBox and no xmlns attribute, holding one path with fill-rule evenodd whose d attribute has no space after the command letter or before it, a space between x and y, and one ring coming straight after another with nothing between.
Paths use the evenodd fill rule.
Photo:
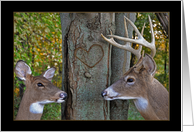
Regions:
<instances>
[{"instance_id":1,"label":"heart shape carved into the tree bark","mask_svg":"<svg viewBox=\"0 0 194 132\"><path fill-rule=\"evenodd\" d=\"M82 47L76 48L74 55L86 66L93 68L102 60L104 51L101 45L93 44L88 51Z\"/></svg>"}]
</instances>

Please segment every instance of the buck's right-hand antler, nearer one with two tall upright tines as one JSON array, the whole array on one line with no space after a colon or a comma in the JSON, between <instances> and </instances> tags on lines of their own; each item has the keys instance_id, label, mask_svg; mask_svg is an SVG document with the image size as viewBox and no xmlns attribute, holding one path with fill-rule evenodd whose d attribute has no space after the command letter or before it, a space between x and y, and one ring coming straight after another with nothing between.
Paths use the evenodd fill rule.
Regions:
<instances>
[{"instance_id":1,"label":"buck's right-hand antler, nearer one with two tall upright tines","mask_svg":"<svg viewBox=\"0 0 194 132\"><path fill-rule=\"evenodd\" d=\"M108 35L108 36L111 37L111 38L116 38L116 39L119 39L119 40L123 40L125 42L140 44L140 45L143 45L147 48L150 48L151 49L151 56L154 57L155 54L156 54L155 37L154 37L154 32L153 32L153 27L152 27L152 22L151 22L150 16L148 16L148 18L149 18L150 30L151 30L151 43L149 43L148 41L146 41L143 38L143 35L141 35L141 33L139 32L137 27L134 25L134 23L131 20L129 20L127 17L125 17L125 19L130 23L130 25L134 28L135 32L138 34L138 39L130 39L130 38L120 37L120 36L116 36L116 35Z\"/></svg>"}]
</instances>

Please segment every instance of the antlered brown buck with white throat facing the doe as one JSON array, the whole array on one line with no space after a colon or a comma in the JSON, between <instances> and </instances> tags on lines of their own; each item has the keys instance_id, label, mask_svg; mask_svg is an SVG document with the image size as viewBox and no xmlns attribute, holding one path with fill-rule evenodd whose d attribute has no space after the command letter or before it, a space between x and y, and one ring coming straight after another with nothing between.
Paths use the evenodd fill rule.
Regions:
<instances>
[{"instance_id":1,"label":"antlered brown buck with white throat facing the doe","mask_svg":"<svg viewBox=\"0 0 194 132\"><path fill-rule=\"evenodd\" d=\"M154 78L156 72L156 63L154 56L156 53L155 38L152 28L152 22L149 17L150 30L151 30L151 43L143 38L142 33L139 32L137 27L127 17L124 16L125 37L116 35L108 35L110 39L101 36L108 43L130 51L138 58L137 63L131 67L118 81L102 91L101 95L105 100L115 99L133 99L134 104L142 117L146 120L168 120L169 111L169 94L166 88ZM134 28L138 35L138 39L128 38L126 20ZM144 25L145 26L145 25ZM144 29L144 27L142 28ZM114 38L125 42L124 45L118 44ZM139 48L133 49L130 42L139 44ZM151 55L145 54L144 51L141 55L142 46L151 49Z\"/></svg>"}]
</instances>

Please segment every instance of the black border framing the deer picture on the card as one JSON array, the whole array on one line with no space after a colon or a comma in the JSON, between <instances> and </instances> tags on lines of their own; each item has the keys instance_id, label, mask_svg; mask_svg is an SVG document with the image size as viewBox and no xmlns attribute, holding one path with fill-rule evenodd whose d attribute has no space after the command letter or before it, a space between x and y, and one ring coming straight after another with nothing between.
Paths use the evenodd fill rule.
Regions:
<instances>
[{"instance_id":1,"label":"black border framing the deer picture on the card","mask_svg":"<svg viewBox=\"0 0 194 132\"><path fill-rule=\"evenodd\" d=\"M170 12L170 121L13 121L13 12ZM181 131L181 1L1 2L1 130L6 131ZM176 47L176 49L172 49ZM178 49L179 48L179 49ZM6 50L7 49L7 50ZM9 52L9 53L8 53ZM10 58L8 58L8 56ZM178 59L177 59L178 58ZM9 59L9 60L8 60ZM12 67L11 67L12 66ZM172 68L176 67L176 68ZM10 72L10 73L9 73ZM180 72L179 72L180 73ZM9 76L11 77L11 76ZM11 77L13 78L13 77ZM173 78L173 79L172 79ZM5 81L3 81L3 79ZM10 80L10 79L9 79ZM8 92L9 91L9 92ZM2 94L3 93L3 94ZM10 94L11 93L11 94ZM9 96L8 96L9 95ZM12 113L12 114L11 114ZM78 126L79 125L79 126Z\"/></svg>"}]
</instances>

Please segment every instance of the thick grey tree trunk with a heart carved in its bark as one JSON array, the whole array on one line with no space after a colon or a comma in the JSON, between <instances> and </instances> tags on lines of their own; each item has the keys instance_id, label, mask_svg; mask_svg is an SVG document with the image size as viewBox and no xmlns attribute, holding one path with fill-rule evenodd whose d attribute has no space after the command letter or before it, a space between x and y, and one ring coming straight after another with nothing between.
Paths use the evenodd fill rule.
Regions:
<instances>
[{"instance_id":1,"label":"thick grey tree trunk with a heart carved in its bark","mask_svg":"<svg viewBox=\"0 0 194 132\"><path fill-rule=\"evenodd\" d=\"M68 98L62 119L108 120L109 102L101 91L110 85L111 45L101 38L114 33L114 13L61 13L63 87Z\"/></svg>"}]
</instances>

